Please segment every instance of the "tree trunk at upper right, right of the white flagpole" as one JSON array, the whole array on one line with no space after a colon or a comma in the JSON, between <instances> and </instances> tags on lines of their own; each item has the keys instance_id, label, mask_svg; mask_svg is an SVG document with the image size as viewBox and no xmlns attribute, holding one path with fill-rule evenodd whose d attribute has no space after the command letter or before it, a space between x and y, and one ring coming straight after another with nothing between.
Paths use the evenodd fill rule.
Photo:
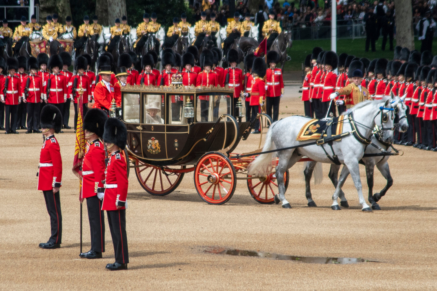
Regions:
<instances>
[{"instance_id":1,"label":"tree trunk at upper right, right of the white flagpole","mask_svg":"<svg viewBox=\"0 0 437 291\"><path fill-rule=\"evenodd\" d=\"M413 7L411 0L395 0L396 45L414 49ZM405 24L405 25L404 25Z\"/></svg>"}]
</instances>

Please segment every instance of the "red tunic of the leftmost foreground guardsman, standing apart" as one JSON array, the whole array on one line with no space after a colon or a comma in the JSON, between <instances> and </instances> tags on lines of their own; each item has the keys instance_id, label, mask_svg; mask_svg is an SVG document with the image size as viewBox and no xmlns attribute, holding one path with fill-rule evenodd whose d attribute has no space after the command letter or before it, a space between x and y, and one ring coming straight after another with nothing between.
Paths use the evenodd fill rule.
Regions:
<instances>
[{"instance_id":1,"label":"red tunic of the leftmost foreground guardsman, standing apart","mask_svg":"<svg viewBox=\"0 0 437 291\"><path fill-rule=\"evenodd\" d=\"M49 191L61 187L62 158L55 135L45 138L39 155L38 190Z\"/></svg>"}]
</instances>

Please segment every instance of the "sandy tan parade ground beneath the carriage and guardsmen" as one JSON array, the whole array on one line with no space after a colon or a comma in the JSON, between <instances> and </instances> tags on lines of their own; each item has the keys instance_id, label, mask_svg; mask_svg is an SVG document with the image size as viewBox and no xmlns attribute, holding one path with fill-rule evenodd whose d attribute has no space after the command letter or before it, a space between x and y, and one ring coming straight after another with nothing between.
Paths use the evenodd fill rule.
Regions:
<instances>
[{"instance_id":1,"label":"sandy tan parade ground beneath the carriage and guardsmen","mask_svg":"<svg viewBox=\"0 0 437 291\"><path fill-rule=\"evenodd\" d=\"M303 114L299 96L298 86L285 88L280 118ZM73 107L70 116L73 125ZM361 211L350 177L343 187L350 208L331 210L327 164L322 184L312 185L318 208L307 207L303 163L290 169L286 197L292 209L258 203L245 180L237 181L227 203L209 205L197 194L192 172L173 193L152 196L131 169L130 263L128 270L111 272L105 269L114 262L108 222L103 259L79 258L79 180L71 171L75 134L64 131L56 135L63 160L63 238L53 250L38 247L50 235L44 197L36 190L42 135L0 135L0 290L437 289L437 152L396 146L404 155L389 159L394 184L379 202L382 210L372 213ZM241 141L235 152L257 149L259 137ZM364 166L360 171L367 197ZM374 192L384 185L375 170ZM90 230L83 206L86 252Z\"/></svg>"}]
</instances>

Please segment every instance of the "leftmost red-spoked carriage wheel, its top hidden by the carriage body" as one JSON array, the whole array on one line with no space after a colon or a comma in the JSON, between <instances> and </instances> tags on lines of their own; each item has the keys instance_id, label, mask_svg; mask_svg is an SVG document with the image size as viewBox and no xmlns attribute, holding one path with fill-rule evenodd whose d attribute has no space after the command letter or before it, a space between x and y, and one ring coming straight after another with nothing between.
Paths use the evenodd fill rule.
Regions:
<instances>
[{"instance_id":1,"label":"leftmost red-spoked carriage wheel, its top hidden by the carriage body","mask_svg":"<svg viewBox=\"0 0 437 291\"><path fill-rule=\"evenodd\" d=\"M184 177L184 173L178 172L166 175L160 167L149 165L138 159L135 159L135 166L135 174L139 184L152 195L164 196L173 192ZM179 167L180 169L185 168L185 166ZM164 166L163 169L170 169L170 167Z\"/></svg>"}]
</instances>

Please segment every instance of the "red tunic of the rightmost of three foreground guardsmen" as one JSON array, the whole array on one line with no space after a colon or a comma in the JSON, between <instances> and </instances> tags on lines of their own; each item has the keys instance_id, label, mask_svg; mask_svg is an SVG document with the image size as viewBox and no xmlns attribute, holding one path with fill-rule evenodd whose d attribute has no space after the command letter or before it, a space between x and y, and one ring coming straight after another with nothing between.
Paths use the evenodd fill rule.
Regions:
<instances>
[{"instance_id":1,"label":"red tunic of the rightmost of three foreground guardsmen","mask_svg":"<svg viewBox=\"0 0 437 291\"><path fill-rule=\"evenodd\" d=\"M97 87L97 86L96 86ZM105 194L102 202L102 210L125 209L126 197L128 196L128 174L124 152L113 152L106 168ZM121 203L118 203L121 202Z\"/></svg>"}]
</instances>

